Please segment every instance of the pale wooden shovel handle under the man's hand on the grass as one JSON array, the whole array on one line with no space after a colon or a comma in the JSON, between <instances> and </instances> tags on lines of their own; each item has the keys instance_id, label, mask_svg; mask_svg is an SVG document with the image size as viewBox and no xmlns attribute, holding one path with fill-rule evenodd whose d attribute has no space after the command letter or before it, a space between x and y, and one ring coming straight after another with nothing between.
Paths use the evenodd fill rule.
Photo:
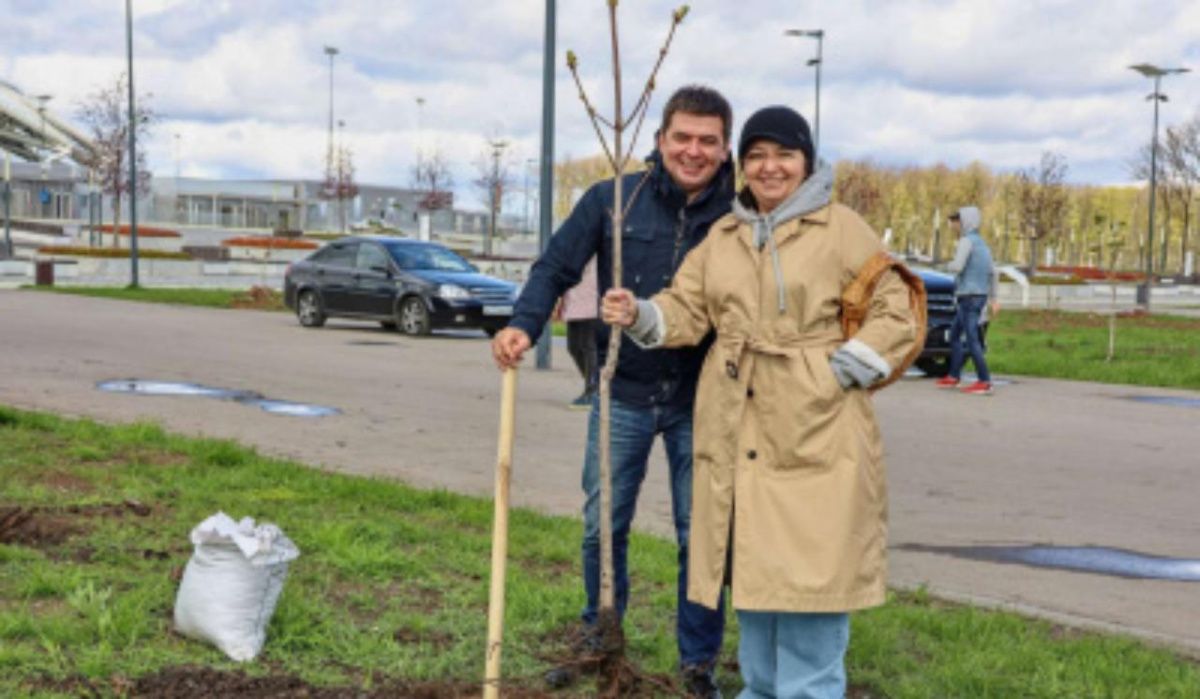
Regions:
<instances>
[{"instance_id":1,"label":"pale wooden shovel handle under the man's hand on the grass","mask_svg":"<svg viewBox=\"0 0 1200 699\"><path fill-rule=\"evenodd\" d=\"M487 662L484 699L500 695L500 645L504 637L504 569L509 555L509 480L512 476L512 422L517 370L504 370L500 388L500 436L496 456L496 510L492 519L492 589L487 598Z\"/></svg>"}]
</instances>

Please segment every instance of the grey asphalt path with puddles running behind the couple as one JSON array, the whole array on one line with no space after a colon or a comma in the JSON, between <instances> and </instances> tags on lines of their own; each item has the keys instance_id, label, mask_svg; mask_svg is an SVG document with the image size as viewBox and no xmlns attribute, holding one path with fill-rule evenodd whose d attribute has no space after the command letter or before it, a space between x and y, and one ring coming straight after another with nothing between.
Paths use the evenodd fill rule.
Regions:
<instances>
[{"instance_id":1,"label":"grey asphalt path with puddles running behind the couple","mask_svg":"<svg viewBox=\"0 0 1200 699\"><path fill-rule=\"evenodd\" d=\"M565 406L580 381L562 348L553 370L529 364L517 387L512 501L576 514L586 413ZM226 400L96 389L125 378L257 392L341 413L282 417ZM482 334L414 339L336 321L312 330L287 313L0 291L0 404L110 423L155 420L330 471L490 496L499 388ZM938 392L923 378L878 394L892 584L1200 655L1200 582L937 550L1097 545L1200 558L1200 408L1128 400L1152 395L1200 399L1021 377L989 398ZM636 520L664 534L665 471L656 447Z\"/></svg>"}]
</instances>

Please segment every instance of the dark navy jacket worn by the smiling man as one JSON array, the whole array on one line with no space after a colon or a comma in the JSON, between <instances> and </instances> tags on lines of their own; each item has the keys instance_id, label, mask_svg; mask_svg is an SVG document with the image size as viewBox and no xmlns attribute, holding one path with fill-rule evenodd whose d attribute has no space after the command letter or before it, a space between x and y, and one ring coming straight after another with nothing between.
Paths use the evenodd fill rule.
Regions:
<instances>
[{"instance_id":1,"label":"dark navy jacket worn by the smiling man","mask_svg":"<svg viewBox=\"0 0 1200 699\"><path fill-rule=\"evenodd\" d=\"M625 216L622 237L624 279L620 286L638 298L652 297L671 282L683 258L703 240L709 226L730 210L733 201L733 167L728 161L691 203L664 169L658 151L647 162L648 173L626 174L622 183L628 205L642 178L649 178ZM529 270L510 327L536 340L554 303L578 283L593 255L598 257L598 292L602 297L612 288L612 219L608 211L613 190L613 180L598 183L575 205ZM628 336L623 337L612 396L638 406L690 406L709 343L710 339L697 347L642 350ZM598 328L596 352L602 364L608 353L607 325Z\"/></svg>"}]
</instances>

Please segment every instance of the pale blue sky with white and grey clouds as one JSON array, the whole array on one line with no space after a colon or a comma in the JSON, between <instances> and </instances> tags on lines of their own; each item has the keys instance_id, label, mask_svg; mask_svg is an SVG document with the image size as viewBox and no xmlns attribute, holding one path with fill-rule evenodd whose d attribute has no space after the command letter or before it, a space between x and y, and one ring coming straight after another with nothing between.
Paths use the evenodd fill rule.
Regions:
<instances>
[{"instance_id":1,"label":"pale blue sky with white and grey clouds","mask_svg":"<svg viewBox=\"0 0 1200 699\"><path fill-rule=\"evenodd\" d=\"M626 100L677 2L620 4ZM406 185L418 149L455 169L460 203L488 137L520 173L538 155L544 0L133 0L134 79L162 119L160 175L319 178L335 46L336 119L360 181ZM125 67L119 0L0 0L0 79L50 94L73 118ZM1189 66L1163 91L1164 125L1200 110L1200 0L694 0L653 113L686 82L733 103L811 116L815 54L788 28L823 29L822 150L888 165L1027 167L1067 156L1076 183L1129 180L1148 142L1152 83L1138 62ZM612 103L604 0L558 0L556 157L596 153L565 67L574 49L596 104ZM422 102L420 102L422 101ZM179 135L175 138L175 135ZM647 135L640 150L648 150ZM520 180L520 175L518 175Z\"/></svg>"}]
</instances>

